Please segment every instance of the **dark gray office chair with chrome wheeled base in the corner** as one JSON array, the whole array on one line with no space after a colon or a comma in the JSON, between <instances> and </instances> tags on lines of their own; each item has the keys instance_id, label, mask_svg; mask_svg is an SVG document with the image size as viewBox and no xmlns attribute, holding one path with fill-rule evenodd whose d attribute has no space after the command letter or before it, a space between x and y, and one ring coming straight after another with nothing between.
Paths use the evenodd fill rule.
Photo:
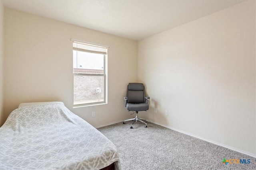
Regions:
<instances>
[{"instance_id":1,"label":"dark gray office chair with chrome wheeled base in the corner","mask_svg":"<svg viewBox=\"0 0 256 170\"><path fill-rule=\"evenodd\" d=\"M148 100L149 97L145 96L145 90L144 85L142 83L129 83L127 86L127 92L126 97L124 97L125 100L125 108L128 109L128 111L135 111L136 117L132 119L127 119L123 123L125 124L126 121L132 120L132 125L140 121L145 124L144 127L147 127L146 119L138 118L138 111L147 111L148 106ZM143 121L142 121L143 120ZM131 129L133 127L131 126Z\"/></svg>"}]
</instances>

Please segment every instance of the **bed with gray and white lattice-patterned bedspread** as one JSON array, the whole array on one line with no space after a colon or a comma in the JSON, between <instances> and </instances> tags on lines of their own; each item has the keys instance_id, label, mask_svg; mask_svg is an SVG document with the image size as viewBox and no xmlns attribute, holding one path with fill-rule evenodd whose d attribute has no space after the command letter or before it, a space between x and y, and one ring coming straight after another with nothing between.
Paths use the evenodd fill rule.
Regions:
<instances>
[{"instance_id":1,"label":"bed with gray and white lattice-patterned bedspread","mask_svg":"<svg viewBox=\"0 0 256 170\"><path fill-rule=\"evenodd\" d=\"M120 170L115 145L62 102L25 103L0 127L1 170Z\"/></svg>"}]
</instances>

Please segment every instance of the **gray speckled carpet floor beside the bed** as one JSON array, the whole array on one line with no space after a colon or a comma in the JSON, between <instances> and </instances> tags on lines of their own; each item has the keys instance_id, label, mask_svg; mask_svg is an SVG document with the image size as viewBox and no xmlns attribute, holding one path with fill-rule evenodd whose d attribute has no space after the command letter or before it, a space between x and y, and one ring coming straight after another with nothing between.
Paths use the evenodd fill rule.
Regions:
<instances>
[{"instance_id":1,"label":"gray speckled carpet floor beside the bed","mask_svg":"<svg viewBox=\"0 0 256 170\"><path fill-rule=\"evenodd\" d=\"M122 170L256 170L256 158L148 122L98 128L116 145ZM223 164L223 158L250 164Z\"/></svg>"}]
</instances>

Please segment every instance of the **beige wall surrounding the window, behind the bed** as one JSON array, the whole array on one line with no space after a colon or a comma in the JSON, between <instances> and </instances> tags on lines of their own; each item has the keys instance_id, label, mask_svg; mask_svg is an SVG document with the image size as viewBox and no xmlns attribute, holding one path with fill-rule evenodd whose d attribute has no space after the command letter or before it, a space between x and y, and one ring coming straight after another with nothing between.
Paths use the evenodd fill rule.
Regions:
<instances>
[{"instance_id":1,"label":"beige wall surrounding the window, behind the bed","mask_svg":"<svg viewBox=\"0 0 256 170\"><path fill-rule=\"evenodd\" d=\"M128 82L137 81L136 41L10 8L4 12L4 119L20 103L40 101L62 101L95 127L131 116L124 108L124 96ZM72 108L70 38L110 46L108 104Z\"/></svg>"}]
</instances>

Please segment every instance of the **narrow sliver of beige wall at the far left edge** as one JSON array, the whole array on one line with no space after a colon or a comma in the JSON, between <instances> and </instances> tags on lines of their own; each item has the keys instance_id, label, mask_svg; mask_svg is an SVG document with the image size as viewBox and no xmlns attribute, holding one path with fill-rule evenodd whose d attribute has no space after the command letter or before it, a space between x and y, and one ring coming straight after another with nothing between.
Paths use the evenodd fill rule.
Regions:
<instances>
[{"instance_id":1,"label":"narrow sliver of beige wall at the far left edge","mask_svg":"<svg viewBox=\"0 0 256 170\"><path fill-rule=\"evenodd\" d=\"M0 126L4 123L4 6L0 1Z\"/></svg>"}]
</instances>

